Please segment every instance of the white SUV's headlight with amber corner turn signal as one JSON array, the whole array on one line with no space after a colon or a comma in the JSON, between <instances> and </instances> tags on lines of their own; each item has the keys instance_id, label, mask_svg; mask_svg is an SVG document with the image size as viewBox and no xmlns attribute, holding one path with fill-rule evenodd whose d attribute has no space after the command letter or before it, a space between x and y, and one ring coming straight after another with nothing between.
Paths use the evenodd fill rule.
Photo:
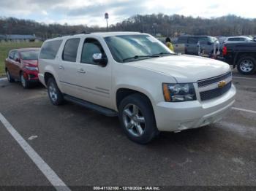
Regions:
<instances>
[{"instance_id":1,"label":"white SUV's headlight with amber corner turn signal","mask_svg":"<svg viewBox=\"0 0 256 191\"><path fill-rule=\"evenodd\" d=\"M188 84L162 84L165 101L180 102L196 100L195 87Z\"/></svg>"}]
</instances>

